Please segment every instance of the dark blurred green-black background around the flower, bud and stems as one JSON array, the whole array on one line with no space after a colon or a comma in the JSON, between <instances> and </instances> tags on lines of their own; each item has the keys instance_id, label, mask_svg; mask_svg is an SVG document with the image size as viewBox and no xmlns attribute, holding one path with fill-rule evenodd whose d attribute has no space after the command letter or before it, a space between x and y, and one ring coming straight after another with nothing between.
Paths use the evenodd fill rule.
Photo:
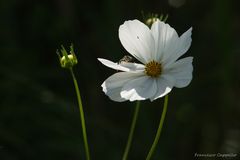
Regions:
<instances>
[{"instance_id":1,"label":"dark blurred green-black background around the flower, bud and stems","mask_svg":"<svg viewBox=\"0 0 240 160\"><path fill-rule=\"evenodd\" d=\"M240 158L240 11L237 0L1 0L0 160L84 160L79 112L68 70L56 49L75 45L93 160L119 160L135 103L116 103L101 90L118 61L125 20L141 12L169 14L179 34L193 27L186 56L192 83L170 93L153 159L193 160L195 153ZM163 99L141 103L130 160L143 160L153 142ZM213 158L215 159L215 158ZM229 158L230 159L230 158Z\"/></svg>"}]
</instances>

